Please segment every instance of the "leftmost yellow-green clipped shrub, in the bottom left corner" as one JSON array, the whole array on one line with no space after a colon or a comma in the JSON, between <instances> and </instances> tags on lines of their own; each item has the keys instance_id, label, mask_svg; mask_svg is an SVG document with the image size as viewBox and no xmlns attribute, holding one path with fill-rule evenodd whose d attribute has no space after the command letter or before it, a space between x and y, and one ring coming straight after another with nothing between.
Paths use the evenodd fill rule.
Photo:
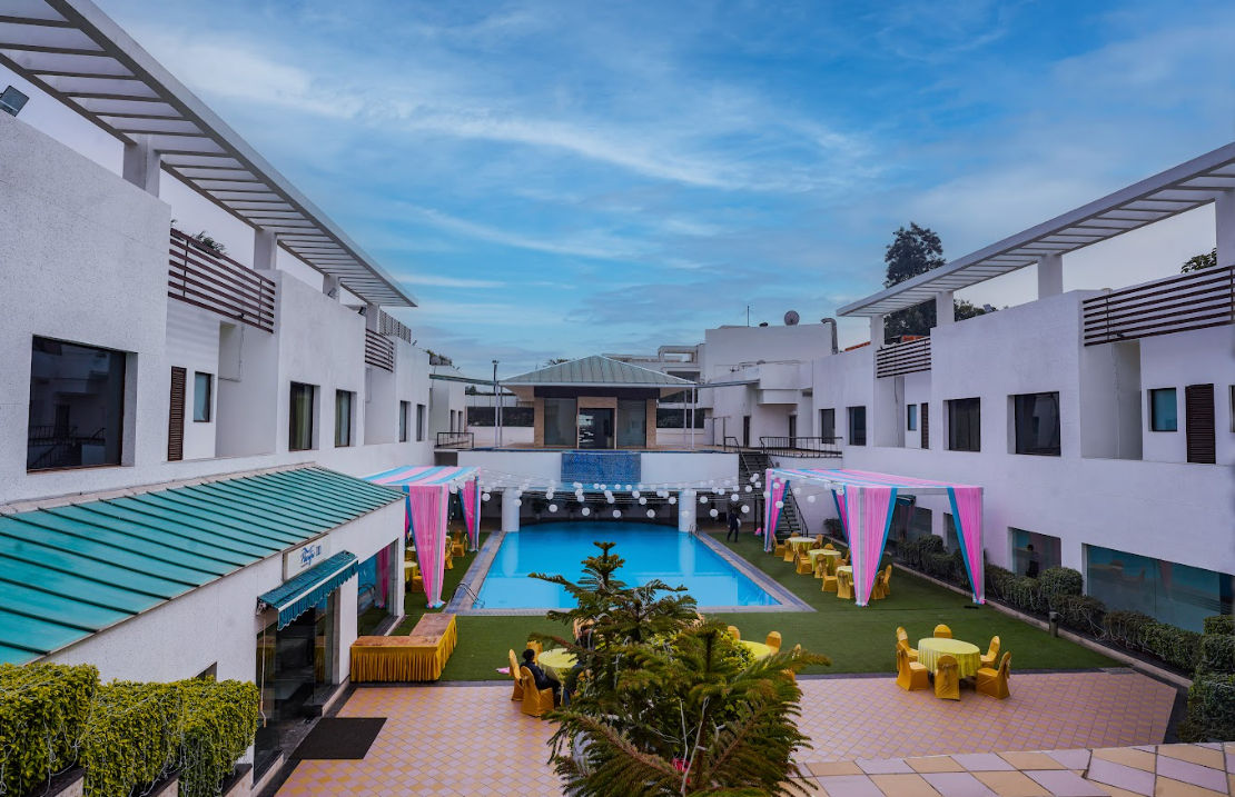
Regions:
<instances>
[{"instance_id":1,"label":"leftmost yellow-green clipped shrub, in the bottom left corner","mask_svg":"<svg viewBox=\"0 0 1235 797\"><path fill-rule=\"evenodd\" d=\"M0 793L33 791L77 760L98 688L89 665L0 665Z\"/></svg>"}]
</instances>

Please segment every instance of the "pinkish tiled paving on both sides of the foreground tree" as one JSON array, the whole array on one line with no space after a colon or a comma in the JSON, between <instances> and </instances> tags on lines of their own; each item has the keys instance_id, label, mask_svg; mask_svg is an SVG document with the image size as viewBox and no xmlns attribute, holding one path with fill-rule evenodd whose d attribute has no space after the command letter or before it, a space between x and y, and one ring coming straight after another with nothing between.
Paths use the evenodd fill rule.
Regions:
<instances>
[{"instance_id":1,"label":"pinkish tiled paving on both sides of the foreground tree","mask_svg":"<svg viewBox=\"0 0 1235 797\"><path fill-rule=\"evenodd\" d=\"M960 702L940 701L930 691L904 692L892 677L803 679L802 688L802 727L814 748L797 758L811 774L805 782L834 796L1152 795L1152 788L1079 788L1077 780L1093 769L1091 748L1162 741L1174 700L1173 690L1134 672L1014 672L1007 701L967 690ZM553 728L522 716L509 686L359 688L340 716L388 719L364 760L301 761L280 797L561 793L546 764L545 741ZM1016 758L1004 750L1056 753ZM1149 750L1140 753L1162 758ZM1184 775L1203 776L1188 767L1213 769L1215 760L1209 754L1188 754L1208 762L1166 755L1171 761L1155 760L1146 770L1149 759L1134 756L1137 766L1118 751L1110 754L1114 759L1104 755L1092 756L1100 761L1098 775L1125 790L1124 783L1142 787L1146 775L1194 783ZM1015 777L1021 772L1028 781Z\"/></svg>"}]
</instances>

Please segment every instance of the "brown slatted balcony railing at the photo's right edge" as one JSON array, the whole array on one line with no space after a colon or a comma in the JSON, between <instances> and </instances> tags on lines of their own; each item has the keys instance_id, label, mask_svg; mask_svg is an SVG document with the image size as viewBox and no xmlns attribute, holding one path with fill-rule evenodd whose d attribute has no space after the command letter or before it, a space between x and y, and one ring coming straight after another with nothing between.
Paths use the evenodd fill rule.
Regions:
<instances>
[{"instance_id":1,"label":"brown slatted balcony railing at the photo's right edge","mask_svg":"<svg viewBox=\"0 0 1235 797\"><path fill-rule=\"evenodd\" d=\"M1235 265L1124 287L1081 306L1084 344L1135 341L1235 323Z\"/></svg>"}]
</instances>

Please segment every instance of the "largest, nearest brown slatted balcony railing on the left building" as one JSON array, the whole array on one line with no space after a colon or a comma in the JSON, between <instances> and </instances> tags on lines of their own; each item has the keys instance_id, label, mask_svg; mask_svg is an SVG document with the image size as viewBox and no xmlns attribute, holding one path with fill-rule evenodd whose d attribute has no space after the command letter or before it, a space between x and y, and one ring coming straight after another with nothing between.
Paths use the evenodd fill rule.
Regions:
<instances>
[{"instance_id":1,"label":"largest, nearest brown slatted balcony railing on the left building","mask_svg":"<svg viewBox=\"0 0 1235 797\"><path fill-rule=\"evenodd\" d=\"M274 283L179 229L168 248L167 295L224 318L274 332Z\"/></svg>"}]
</instances>

